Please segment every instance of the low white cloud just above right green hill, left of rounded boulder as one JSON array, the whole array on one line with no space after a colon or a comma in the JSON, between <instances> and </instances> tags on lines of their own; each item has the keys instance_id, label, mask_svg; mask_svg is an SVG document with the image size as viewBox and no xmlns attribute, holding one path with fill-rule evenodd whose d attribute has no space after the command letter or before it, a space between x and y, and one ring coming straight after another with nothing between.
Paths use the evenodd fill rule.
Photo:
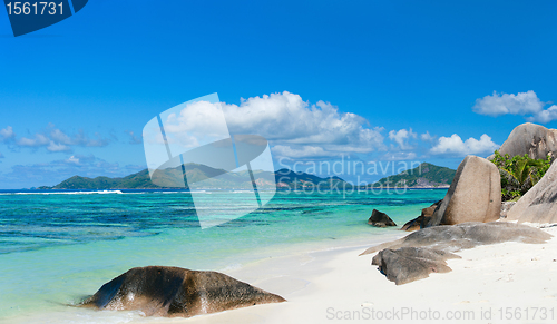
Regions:
<instances>
[{"instance_id":1,"label":"low white cloud just above right green hill, left of rounded boulder","mask_svg":"<svg viewBox=\"0 0 557 324\"><path fill-rule=\"evenodd\" d=\"M431 148L430 153L436 155L466 156L469 154L492 153L499 147L491 140L491 137L483 134L480 140L468 138L462 141L460 136L453 134L451 137L440 137L438 144Z\"/></svg>"}]
</instances>

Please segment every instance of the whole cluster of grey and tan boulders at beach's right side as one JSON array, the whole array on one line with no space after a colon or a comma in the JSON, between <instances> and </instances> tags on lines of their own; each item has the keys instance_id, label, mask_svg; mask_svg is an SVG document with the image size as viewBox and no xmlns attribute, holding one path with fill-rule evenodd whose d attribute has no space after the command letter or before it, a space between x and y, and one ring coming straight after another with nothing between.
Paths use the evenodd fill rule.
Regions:
<instances>
[{"instance_id":1,"label":"whole cluster of grey and tan boulders at beach's right side","mask_svg":"<svg viewBox=\"0 0 557 324\"><path fill-rule=\"evenodd\" d=\"M555 157L557 130L529 122L520 125L499 153L510 157L527 154L532 159ZM362 255L377 253L372 265L399 285L426 278L432 272L449 272L444 261L458 257L452 253L462 248L509 240L547 242L551 235L517 223L557 223L557 164L518 202L501 204L500 174L491 158L467 156L444 198L423 208L419 217L401 228L417 232L371 247Z\"/></svg>"}]
</instances>

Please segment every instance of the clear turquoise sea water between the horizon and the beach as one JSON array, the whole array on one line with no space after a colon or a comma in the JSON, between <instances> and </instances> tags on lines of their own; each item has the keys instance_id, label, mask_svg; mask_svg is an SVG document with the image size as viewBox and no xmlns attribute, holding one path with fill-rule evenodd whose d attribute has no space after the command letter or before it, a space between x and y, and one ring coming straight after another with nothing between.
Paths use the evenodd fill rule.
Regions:
<instances>
[{"instance_id":1,"label":"clear turquoise sea water between the horizon and the beach","mask_svg":"<svg viewBox=\"0 0 557 324\"><path fill-rule=\"evenodd\" d=\"M300 248L332 248L397 230L369 226L373 208L402 225L444 193L278 192L265 208L206 229L198 227L186 192L0 193L0 321L58 312L66 314L65 323L85 323L66 305L131 267L226 272ZM215 202L229 196L206 195ZM95 318L104 312L94 314L90 323L110 322Z\"/></svg>"}]
</instances>

